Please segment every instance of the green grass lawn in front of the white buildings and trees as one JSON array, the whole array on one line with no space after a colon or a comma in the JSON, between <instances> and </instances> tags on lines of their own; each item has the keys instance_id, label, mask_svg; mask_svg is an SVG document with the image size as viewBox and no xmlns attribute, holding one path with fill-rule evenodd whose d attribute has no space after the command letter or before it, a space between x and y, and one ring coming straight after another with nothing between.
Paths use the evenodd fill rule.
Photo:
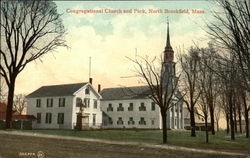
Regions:
<instances>
[{"instance_id":1,"label":"green grass lawn in front of the white buildings and trees","mask_svg":"<svg viewBox=\"0 0 250 158\"><path fill-rule=\"evenodd\" d=\"M25 130L24 132L156 144L162 142L161 130ZM168 131L170 145L250 153L250 139L245 138L244 134L236 135L236 140L231 141L230 135L221 131L215 135L210 134L209 141L208 144L205 143L205 132L202 131L197 131L197 137L190 137L190 131Z\"/></svg>"}]
</instances>

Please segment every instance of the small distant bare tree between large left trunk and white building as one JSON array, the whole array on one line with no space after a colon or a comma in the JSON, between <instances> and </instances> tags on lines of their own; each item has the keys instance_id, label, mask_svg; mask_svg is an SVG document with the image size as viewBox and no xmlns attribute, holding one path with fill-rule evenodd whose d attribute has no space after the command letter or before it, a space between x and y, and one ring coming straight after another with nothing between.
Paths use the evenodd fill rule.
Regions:
<instances>
[{"instance_id":1,"label":"small distant bare tree between large left trunk and white building","mask_svg":"<svg viewBox=\"0 0 250 158\"><path fill-rule=\"evenodd\" d=\"M15 95L14 101L13 101L13 109L18 113L18 114L23 114L25 108L27 108L27 100L25 98L24 94L18 94Z\"/></svg>"}]
</instances>

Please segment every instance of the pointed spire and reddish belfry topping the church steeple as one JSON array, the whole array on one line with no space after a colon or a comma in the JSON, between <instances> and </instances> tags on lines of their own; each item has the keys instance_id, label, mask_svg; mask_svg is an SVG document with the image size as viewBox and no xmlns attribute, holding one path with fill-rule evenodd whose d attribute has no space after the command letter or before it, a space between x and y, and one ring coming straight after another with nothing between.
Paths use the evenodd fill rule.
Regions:
<instances>
[{"instance_id":1,"label":"pointed spire and reddish belfry topping the church steeple","mask_svg":"<svg viewBox=\"0 0 250 158\"><path fill-rule=\"evenodd\" d=\"M169 21L167 21L167 41L164 50L164 62L172 62L173 60L174 60L174 51L170 44Z\"/></svg>"}]
</instances>

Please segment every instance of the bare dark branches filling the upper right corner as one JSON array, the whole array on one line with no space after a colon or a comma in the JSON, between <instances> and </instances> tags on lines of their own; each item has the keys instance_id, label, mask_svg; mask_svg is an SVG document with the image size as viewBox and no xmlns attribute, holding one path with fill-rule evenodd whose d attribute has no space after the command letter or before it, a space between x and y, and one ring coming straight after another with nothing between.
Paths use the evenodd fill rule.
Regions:
<instances>
[{"instance_id":1,"label":"bare dark branches filling the upper right corner","mask_svg":"<svg viewBox=\"0 0 250 158\"><path fill-rule=\"evenodd\" d=\"M242 87L250 92L250 2L247 0L217 1L219 11L214 12L215 21L207 25L207 33L220 49L235 56L240 67Z\"/></svg>"}]
</instances>

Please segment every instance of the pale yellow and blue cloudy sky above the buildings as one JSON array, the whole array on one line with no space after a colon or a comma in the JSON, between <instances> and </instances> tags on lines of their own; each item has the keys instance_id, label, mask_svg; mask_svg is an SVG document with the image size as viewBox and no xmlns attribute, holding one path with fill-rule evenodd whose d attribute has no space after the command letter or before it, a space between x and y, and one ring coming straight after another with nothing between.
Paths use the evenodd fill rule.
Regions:
<instances>
[{"instance_id":1,"label":"pale yellow and blue cloudy sky above the buildings","mask_svg":"<svg viewBox=\"0 0 250 158\"><path fill-rule=\"evenodd\" d=\"M29 94L41 86L87 82L89 58L93 86L102 88L137 86L134 64L127 59L137 55L160 57L166 44L167 18L171 45L188 49L194 43L206 46L204 31L211 19L214 3L208 1L57 1L67 30L70 48L58 48L41 60L27 65L17 78L15 93ZM70 13L74 10L121 10L122 13ZM123 13L144 9L146 13ZM149 13L149 9L163 13ZM164 10L188 10L187 13L164 13ZM192 13L192 10L204 13ZM176 59L175 59L176 60ZM176 61L178 62L178 61Z\"/></svg>"}]
</instances>

